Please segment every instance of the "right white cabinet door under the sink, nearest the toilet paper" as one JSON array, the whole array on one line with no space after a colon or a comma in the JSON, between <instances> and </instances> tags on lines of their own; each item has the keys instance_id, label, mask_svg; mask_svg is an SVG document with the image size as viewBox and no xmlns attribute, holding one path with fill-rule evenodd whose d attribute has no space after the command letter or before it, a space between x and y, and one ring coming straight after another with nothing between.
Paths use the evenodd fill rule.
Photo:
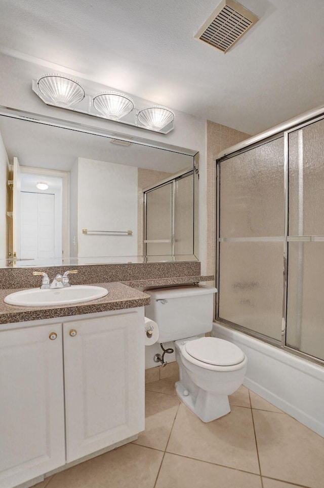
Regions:
<instances>
[{"instance_id":1,"label":"right white cabinet door under the sink, nearest the toilet paper","mask_svg":"<svg viewBox=\"0 0 324 488\"><path fill-rule=\"evenodd\" d=\"M143 307L64 324L67 462L144 430L143 328Z\"/></svg>"}]
</instances>

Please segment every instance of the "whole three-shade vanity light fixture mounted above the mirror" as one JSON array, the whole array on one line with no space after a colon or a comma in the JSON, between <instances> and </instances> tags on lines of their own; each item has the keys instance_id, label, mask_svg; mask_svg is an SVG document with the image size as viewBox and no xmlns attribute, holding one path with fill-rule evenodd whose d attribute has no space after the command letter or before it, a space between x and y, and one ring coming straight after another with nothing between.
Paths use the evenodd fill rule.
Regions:
<instances>
[{"instance_id":1,"label":"whole three-shade vanity light fixture mounted above the mirror","mask_svg":"<svg viewBox=\"0 0 324 488\"><path fill-rule=\"evenodd\" d=\"M174 129L175 114L167 107L154 105L137 108L125 93L109 88L101 93L86 93L72 78L59 74L43 75L32 80L32 90L52 107L73 110L79 114L108 119L144 130L168 134Z\"/></svg>"}]
</instances>

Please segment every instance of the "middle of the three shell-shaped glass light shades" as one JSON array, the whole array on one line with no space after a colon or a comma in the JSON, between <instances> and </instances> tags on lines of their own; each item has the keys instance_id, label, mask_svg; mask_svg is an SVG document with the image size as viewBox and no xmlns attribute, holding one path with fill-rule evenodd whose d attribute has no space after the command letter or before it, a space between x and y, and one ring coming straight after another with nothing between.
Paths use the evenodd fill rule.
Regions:
<instances>
[{"instance_id":1,"label":"middle of the three shell-shaped glass light shades","mask_svg":"<svg viewBox=\"0 0 324 488\"><path fill-rule=\"evenodd\" d=\"M105 91L94 97L93 106L104 117L119 120L132 112L134 102L124 93Z\"/></svg>"}]
</instances>

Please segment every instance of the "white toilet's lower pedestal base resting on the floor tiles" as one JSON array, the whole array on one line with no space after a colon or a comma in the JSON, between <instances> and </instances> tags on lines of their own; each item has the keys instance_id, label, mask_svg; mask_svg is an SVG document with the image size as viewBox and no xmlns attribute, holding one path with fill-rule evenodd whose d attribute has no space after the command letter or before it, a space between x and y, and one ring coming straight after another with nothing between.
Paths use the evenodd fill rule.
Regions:
<instances>
[{"instance_id":1,"label":"white toilet's lower pedestal base resting on the floor tiles","mask_svg":"<svg viewBox=\"0 0 324 488\"><path fill-rule=\"evenodd\" d=\"M194 385L190 390L184 387L181 380L175 384L178 398L203 422L219 419L231 411L227 395L213 395Z\"/></svg>"}]
</instances>

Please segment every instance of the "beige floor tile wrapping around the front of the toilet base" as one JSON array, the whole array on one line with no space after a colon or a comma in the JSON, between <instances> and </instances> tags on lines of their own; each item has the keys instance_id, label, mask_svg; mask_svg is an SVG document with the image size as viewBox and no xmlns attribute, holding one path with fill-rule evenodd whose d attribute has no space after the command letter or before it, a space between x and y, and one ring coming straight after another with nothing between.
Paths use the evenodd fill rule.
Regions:
<instances>
[{"instance_id":1,"label":"beige floor tile wrapping around the front of the toilet base","mask_svg":"<svg viewBox=\"0 0 324 488\"><path fill-rule=\"evenodd\" d=\"M205 424L181 404L167 451L260 474L250 408L233 406L229 414Z\"/></svg>"}]
</instances>

